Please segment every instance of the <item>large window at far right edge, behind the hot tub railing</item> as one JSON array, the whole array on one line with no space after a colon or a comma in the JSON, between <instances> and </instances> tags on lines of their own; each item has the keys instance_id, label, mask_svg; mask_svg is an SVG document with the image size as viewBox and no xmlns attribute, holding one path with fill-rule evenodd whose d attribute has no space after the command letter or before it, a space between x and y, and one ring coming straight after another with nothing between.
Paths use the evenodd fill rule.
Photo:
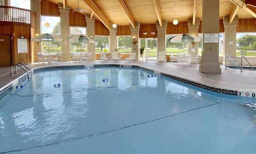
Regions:
<instances>
[{"instance_id":1,"label":"large window at far right edge, behind the hot tub railing","mask_svg":"<svg viewBox=\"0 0 256 154\"><path fill-rule=\"evenodd\" d=\"M236 56L256 57L256 33L237 33L236 38Z\"/></svg>"}]
</instances>

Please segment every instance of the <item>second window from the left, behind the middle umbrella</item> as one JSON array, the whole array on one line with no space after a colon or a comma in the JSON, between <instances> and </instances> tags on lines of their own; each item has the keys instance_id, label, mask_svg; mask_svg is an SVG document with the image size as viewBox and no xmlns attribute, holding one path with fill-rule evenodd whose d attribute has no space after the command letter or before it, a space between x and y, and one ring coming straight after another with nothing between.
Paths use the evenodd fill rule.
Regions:
<instances>
[{"instance_id":1,"label":"second window from the left, behind the middle umbrella","mask_svg":"<svg viewBox=\"0 0 256 154\"><path fill-rule=\"evenodd\" d=\"M70 37L74 35L86 35L86 27L70 27ZM87 43L70 42L70 52L86 52Z\"/></svg>"}]
</instances>

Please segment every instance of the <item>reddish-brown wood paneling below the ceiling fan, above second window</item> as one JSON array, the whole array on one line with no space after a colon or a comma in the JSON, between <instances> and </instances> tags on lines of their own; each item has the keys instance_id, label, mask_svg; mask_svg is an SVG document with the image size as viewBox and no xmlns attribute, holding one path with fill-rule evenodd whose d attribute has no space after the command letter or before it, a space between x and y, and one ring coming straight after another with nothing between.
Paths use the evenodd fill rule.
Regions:
<instances>
[{"instance_id":1,"label":"reddish-brown wood paneling below the ceiling fan, above second window","mask_svg":"<svg viewBox=\"0 0 256 154\"><path fill-rule=\"evenodd\" d=\"M69 12L69 26L86 27L85 15L77 12Z\"/></svg>"}]
</instances>

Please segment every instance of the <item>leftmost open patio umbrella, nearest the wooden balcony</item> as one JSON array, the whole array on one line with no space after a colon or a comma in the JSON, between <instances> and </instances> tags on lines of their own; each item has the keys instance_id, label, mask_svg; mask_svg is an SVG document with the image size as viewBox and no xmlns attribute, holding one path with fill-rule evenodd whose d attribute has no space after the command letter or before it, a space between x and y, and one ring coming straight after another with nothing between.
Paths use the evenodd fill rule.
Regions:
<instances>
[{"instance_id":1,"label":"leftmost open patio umbrella, nearest the wooden balcony","mask_svg":"<svg viewBox=\"0 0 256 154\"><path fill-rule=\"evenodd\" d=\"M53 34L41 34L38 36L35 36L31 38L31 42L48 42L48 52L49 52L49 57L50 57L50 47L49 47L49 42L62 42L63 39L61 37L58 37Z\"/></svg>"}]
</instances>

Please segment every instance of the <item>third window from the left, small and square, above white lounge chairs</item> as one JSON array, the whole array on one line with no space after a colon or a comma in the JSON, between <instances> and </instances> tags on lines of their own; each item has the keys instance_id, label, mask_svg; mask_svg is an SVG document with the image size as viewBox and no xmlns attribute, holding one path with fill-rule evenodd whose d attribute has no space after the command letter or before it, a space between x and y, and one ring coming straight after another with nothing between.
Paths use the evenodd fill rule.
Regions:
<instances>
[{"instance_id":1,"label":"third window from the left, small and square, above white lounge chairs","mask_svg":"<svg viewBox=\"0 0 256 154\"><path fill-rule=\"evenodd\" d=\"M95 52L109 52L108 36L95 36Z\"/></svg>"}]
</instances>

